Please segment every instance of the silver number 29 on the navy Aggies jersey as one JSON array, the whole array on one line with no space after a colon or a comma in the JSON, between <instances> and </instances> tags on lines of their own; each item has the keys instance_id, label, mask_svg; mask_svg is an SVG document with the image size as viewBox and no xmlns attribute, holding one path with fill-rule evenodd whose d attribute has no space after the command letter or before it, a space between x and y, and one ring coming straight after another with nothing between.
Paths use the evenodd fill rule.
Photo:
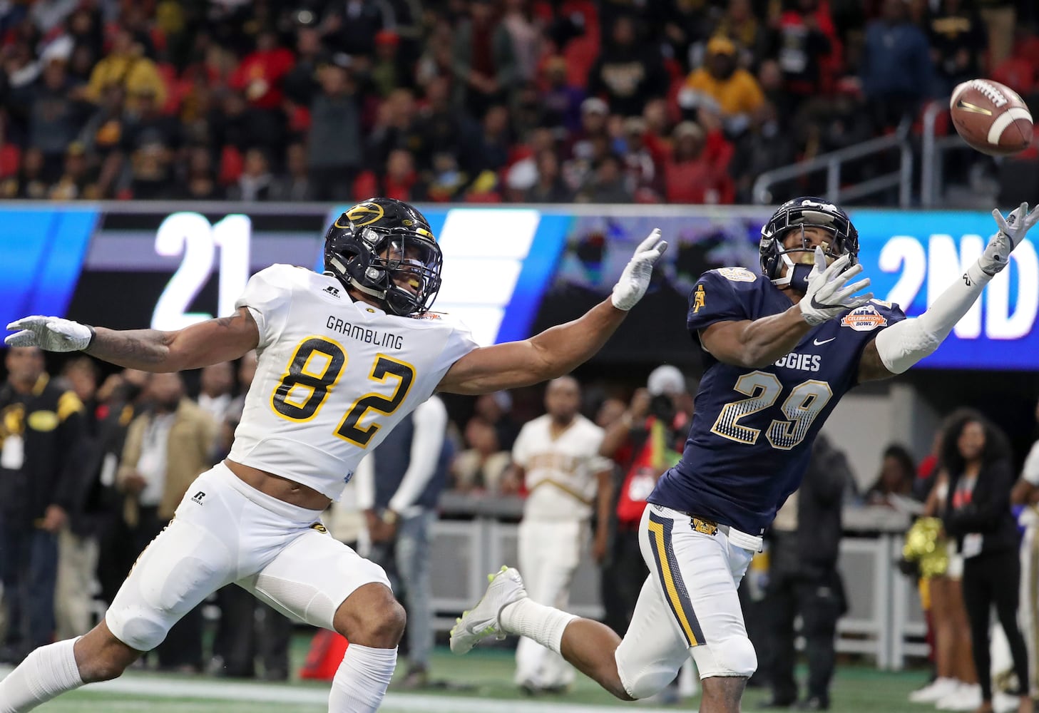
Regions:
<instances>
[{"instance_id":1,"label":"silver number 29 on the navy Aggies jersey","mask_svg":"<svg viewBox=\"0 0 1039 713\"><path fill-rule=\"evenodd\" d=\"M736 380L734 389L746 394L747 398L729 401L721 407L718 420L711 432L752 446L762 434L761 428L751 428L740 423L740 420L760 411L765 411L779 400L782 385L775 374L767 371L751 371ZM808 434L811 422L826 406L833 396L830 385L826 381L809 378L791 389L790 396L782 402L779 410L785 419L774 419L765 429L765 438L773 448L790 450L804 441Z\"/></svg>"}]
</instances>

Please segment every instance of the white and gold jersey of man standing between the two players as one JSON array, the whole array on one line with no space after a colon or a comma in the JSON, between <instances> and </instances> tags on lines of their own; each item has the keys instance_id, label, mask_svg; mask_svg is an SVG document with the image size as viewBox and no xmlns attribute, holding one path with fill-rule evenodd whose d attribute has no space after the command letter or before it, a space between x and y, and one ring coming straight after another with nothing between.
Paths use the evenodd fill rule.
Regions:
<instances>
[{"instance_id":1,"label":"white and gold jersey of man standing between the two players","mask_svg":"<svg viewBox=\"0 0 1039 713\"><path fill-rule=\"evenodd\" d=\"M598 454L604 430L581 416L556 438L552 417L528 421L512 446L512 460L525 472L527 520L587 520L592 513L595 474L611 461Z\"/></svg>"}]
</instances>

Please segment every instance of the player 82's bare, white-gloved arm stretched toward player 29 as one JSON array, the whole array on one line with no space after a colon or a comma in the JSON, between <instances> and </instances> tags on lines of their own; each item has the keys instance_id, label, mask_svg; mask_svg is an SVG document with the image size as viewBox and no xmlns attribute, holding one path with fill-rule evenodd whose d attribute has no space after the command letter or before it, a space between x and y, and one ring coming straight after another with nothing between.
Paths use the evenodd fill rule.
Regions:
<instances>
[{"instance_id":1,"label":"player 82's bare, white-gloved arm stretched toward player 29","mask_svg":"<svg viewBox=\"0 0 1039 713\"><path fill-rule=\"evenodd\" d=\"M454 394L484 394L562 376L588 361L617 331L628 311L645 294L654 264L667 248L655 230L638 246L613 294L572 322L545 329L522 342L507 342L469 352L448 370L437 389Z\"/></svg>"}]
</instances>

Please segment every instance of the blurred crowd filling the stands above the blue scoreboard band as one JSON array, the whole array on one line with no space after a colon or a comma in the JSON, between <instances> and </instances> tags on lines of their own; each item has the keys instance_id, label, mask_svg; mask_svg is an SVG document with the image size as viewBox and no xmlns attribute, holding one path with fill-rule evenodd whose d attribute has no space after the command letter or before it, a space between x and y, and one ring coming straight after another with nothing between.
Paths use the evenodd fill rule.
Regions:
<instances>
[{"instance_id":1,"label":"blurred crowd filling the stands above the blue scoreboard band","mask_svg":"<svg viewBox=\"0 0 1039 713\"><path fill-rule=\"evenodd\" d=\"M5 0L0 195L748 203L979 73L1034 97L1035 22L1029 0Z\"/></svg>"}]
</instances>

